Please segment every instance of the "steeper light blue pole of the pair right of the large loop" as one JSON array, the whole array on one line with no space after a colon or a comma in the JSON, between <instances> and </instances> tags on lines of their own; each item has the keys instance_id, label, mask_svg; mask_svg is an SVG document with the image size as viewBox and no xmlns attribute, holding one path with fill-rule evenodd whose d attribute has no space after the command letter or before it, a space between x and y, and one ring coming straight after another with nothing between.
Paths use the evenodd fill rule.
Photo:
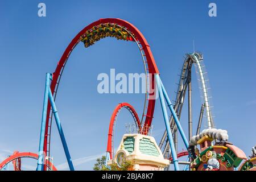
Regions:
<instances>
[{"instance_id":1,"label":"steeper light blue pole of the pair right of the large loop","mask_svg":"<svg viewBox=\"0 0 256 182\"><path fill-rule=\"evenodd\" d=\"M167 135L168 135L168 140L170 142L172 159L174 162L174 169L175 169L175 171L179 171L180 168L179 168L179 163L177 160L177 154L175 151L174 139L172 138L172 131L171 131L171 127L170 127L170 123L169 123L169 119L168 119L166 104L164 103L164 96L163 96L162 86L160 83L160 77L158 74L155 75L155 80L156 80L156 84L158 86L158 92L159 92L160 104L161 104L162 111L163 111L164 123L166 124L166 131L167 131Z\"/></svg>"}]
</instances>

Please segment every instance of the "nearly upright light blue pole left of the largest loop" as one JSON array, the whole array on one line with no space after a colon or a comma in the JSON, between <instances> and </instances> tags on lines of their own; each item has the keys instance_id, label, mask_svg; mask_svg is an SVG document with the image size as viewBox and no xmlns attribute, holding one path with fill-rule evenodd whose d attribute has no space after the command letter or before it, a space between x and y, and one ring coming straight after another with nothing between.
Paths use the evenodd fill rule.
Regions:
<instances>
[{"instance_id":1,"label":"nearly upright light blue pole left of the largest loop","mask_svg":"<svg viewBox=\"0 0 256 182\"><path fill-rule=\"evenodd\" d=\"M48 96L49 96L49 83L50 83L50 73L46 73L46 88L44 89L44 104L43 104L43 114L42 114L42 124L41 124L41 131L40 131L40 141L39 141L39 151L38 151L38 166L36 171L43 171L44 169L44 159L45 155L43 148L44 148L44 134L46 131L46 115L47 115L47 106L48 106Z\"/></svg>"}]
</instances>

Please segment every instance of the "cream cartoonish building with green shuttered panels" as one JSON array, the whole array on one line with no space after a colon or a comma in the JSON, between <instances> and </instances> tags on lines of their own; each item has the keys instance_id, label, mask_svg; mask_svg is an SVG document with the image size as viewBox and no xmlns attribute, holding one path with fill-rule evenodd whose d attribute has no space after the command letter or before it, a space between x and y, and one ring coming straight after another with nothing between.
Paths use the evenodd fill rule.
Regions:
<instances>
[{"instance_id":1,"label":"cream cartoonish building with green shuttered panels","mask_svg":"<svg viewBox=\"0 0 256 182\"><path fill-rule=\"evenodd\" d=\"M142 134L125 134L119 144L115 158L108 165L117 163L118 166L129 160L135 171L162 171L170 163L155 142L154 137Z\"/></svg>"}]
</instances>

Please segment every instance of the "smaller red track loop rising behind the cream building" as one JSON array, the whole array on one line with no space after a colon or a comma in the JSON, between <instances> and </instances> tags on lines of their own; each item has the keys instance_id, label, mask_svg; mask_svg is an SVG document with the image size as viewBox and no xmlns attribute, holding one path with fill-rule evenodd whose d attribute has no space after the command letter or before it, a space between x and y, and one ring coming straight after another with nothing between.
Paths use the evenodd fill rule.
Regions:
<instances>
[{"instance_id":1,"label":"smaller red track loop rising behind the cream building","mask_svg":"<svg viewBox=\"0 0 256 182\"><path fill-rule=\"evenodd\" d=\"M117 121L117 114L119 113L119 111L121 111L122 108L126 108L130 111L130 113L133 115L135 123L138 126L139 131L141 131L141 122L139 121L138 114L136 113L133 106L131 106L127 102L123 102L123 103L118 104L117 107L115 107L115 110L113 111L113 114L112 114L112 117L111 117L110 123L109 123L107 152L109 152L109 154L110 154L110 159L113 159L113 155L114 155L113 154L113 152L114 152L113 151L113 146L112 146L114 125L115 125L115 122Z\"/></svg>"}]
</instances>

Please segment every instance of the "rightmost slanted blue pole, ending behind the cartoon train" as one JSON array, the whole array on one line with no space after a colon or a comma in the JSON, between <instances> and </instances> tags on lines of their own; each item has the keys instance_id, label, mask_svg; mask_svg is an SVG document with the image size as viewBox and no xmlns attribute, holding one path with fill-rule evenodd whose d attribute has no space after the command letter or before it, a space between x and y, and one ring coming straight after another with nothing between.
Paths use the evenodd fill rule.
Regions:
<instances>
[{"instance_id":1,"label":"rightmost slanted blue pole, ending behind the cartoon train","mask_svg":"<svg viewBox=\"0 0 256 182\"><path fill-rule=\"evenodd\" d=\"M164 98L166 98L167 105L168 105L168 107L169 107L169 109L172 113L172 116L174 117L174 121L176 123L177 129L180 131L181 138L183 139L183 142L184 142L185 146L188 148L188 145L189 145L188 139L187 139L187 137L186 137L181 125L180 125L179 119L177 118L177 114L175 113L174 107L172 106L172 103L170 101L170 98L168 97L166 89L164 88L163 83L162 83L160 78L159 78L159 80L160 80L161 88L163 90Z\"/></svg>"}]
</instances>

